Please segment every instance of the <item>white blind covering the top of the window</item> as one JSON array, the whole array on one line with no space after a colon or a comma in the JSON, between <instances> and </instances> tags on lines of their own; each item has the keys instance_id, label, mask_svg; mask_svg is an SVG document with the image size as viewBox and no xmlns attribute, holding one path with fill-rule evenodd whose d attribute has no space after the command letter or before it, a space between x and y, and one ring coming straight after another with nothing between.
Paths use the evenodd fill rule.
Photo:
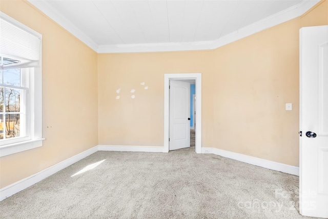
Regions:
<instances>
[{"instance_id":1,"label":"white blind covering the top of the window","mask_svg":"<svg viewBox=\"0 0 328 219\"><path fill-rule=\"evenodd\" d=\"M0 55L19 59L15 67L39 66L42 36L31 30L30 32L14 25L6 19L7 15L1 13L0 17ZM17 22L16 22L17 23ZM10 66L3 66L10 68Z\"/></svg>"}]
</instances>

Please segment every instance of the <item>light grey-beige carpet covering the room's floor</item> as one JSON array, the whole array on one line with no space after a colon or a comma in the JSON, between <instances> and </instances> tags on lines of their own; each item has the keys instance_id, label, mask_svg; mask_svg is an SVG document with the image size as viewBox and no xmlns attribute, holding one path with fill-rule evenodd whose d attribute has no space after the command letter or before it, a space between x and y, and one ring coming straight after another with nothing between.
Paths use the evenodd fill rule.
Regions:
<instances>
[{"instance_id":1,"label":"light grey-beige carpet covering the room's floor","mask_svg":"<svg viewBox=\"0 0 328 219\"><path fill-rule=\"evenodd\" d=\"M0 202L0 218L308 217L298 212L298 176L191 147L98 151Z\"/></svg>"}]
</instances>

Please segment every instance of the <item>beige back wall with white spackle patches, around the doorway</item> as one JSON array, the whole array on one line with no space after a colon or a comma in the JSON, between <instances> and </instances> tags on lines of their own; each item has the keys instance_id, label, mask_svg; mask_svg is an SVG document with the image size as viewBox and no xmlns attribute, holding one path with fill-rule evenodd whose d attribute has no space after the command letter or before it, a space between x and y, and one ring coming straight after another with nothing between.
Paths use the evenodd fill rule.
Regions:
<instances>
[{"instance_id":1,"label":"beige back wall with white spackle patches, around the doorway","mask_svg":"<svg viewBox=\"0 0 328 219\"><path fill-rule=\"evenodd\" d=\"M163 146L164 74L201 72L203 84L210 86L212 59L213 51L99 54L99 145ZM131 89L136 90L134 99ZM206 105L211 104L207 91ZM202 120L211 116L203 113ZM204 133L211 130L206 128Z\"/></svg>"}]
</instances>

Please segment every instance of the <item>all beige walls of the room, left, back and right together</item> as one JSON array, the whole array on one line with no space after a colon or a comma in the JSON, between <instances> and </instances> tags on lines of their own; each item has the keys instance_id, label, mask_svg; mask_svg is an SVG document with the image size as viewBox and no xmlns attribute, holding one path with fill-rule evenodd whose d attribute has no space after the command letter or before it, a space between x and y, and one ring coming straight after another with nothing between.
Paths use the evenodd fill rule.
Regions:
<instances>
[{"instance_id":1,"label":"all beige walls of the room, left, back and right together","mask_svg":"<svg viewBox=\"0 0 328 219\"><path fill-rule=\"evenodd\" d=\"M298 166L298 31L328 25L328 1L212 51L98 55L28 2L0 10L43 34L46 138L0 158L0 188L98 144L163 146L165 73L202 73L203 147Z\"/></svg>"}]
</instances>

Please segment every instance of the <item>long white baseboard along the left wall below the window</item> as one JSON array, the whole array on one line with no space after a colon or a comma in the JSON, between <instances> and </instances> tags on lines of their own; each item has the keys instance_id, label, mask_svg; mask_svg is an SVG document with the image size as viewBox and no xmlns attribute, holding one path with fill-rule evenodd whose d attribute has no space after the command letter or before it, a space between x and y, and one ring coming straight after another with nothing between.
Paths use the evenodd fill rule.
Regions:
<instances>
[{"instance_id":1,"label":"long white baseboard along the left wall below the window","mask_svg":"<svg viewBox=\"0 0 328 219\"><path fill-rule=\"evenodd\" d=\"M0 201L44 180L48 176L51 176L52 174L82 160L83 158L85 158L97 151L98 151L98 147L97 146L93 147L82 153L76 154L75 156L72 156L72 157L66 159L65 161L59 162L58 164L48 167L47 169L44 169L40 172L37 172L33 175L23 178L23 180L20 180L16 183L13 183L9 186L6 186L6 187L0 189Z\"/></svg>"}]
</instances>

